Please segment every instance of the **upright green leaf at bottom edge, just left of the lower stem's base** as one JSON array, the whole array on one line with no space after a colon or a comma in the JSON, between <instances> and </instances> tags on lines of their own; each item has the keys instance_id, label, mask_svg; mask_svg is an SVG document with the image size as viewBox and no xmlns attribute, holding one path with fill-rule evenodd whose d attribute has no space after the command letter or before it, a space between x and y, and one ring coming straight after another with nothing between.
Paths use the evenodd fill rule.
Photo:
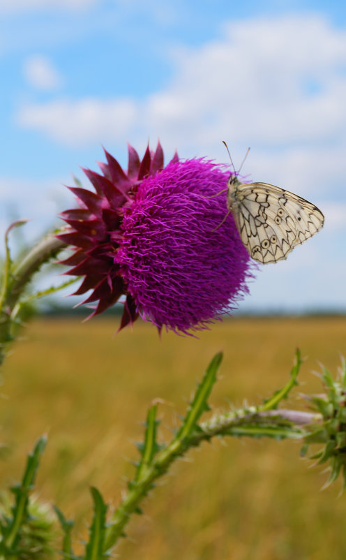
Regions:
<instances>
[{"instance_id":1,"label":"upright green leaf at bottom edge, just left of the lower stem's base","mask_svg":"<svg viewBox=\"0 0 346 560\"><path fill-rule=\"evenodd\" d=\"M109 557L104 552L106 513L107 506L97 488L91 487L93 497L93 521L89 529L89 543L85 554L85 560L102 560Z\"/></svg>"}]
</instances>

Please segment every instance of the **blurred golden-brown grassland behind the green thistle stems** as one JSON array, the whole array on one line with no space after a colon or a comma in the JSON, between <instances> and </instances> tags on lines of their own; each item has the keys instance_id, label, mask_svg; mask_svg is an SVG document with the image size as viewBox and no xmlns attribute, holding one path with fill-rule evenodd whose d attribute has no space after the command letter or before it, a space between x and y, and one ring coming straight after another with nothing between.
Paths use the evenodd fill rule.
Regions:
<instances>
[{"instance_id":1,"label":"blurred golden-brown grassland behind the green thistle stems","mask_svg":"<svg viewBox=\"0 0 346 560\"><path fill-rule=\"evenodd\" d=\"M179 423L212 356L225 358L210 404L257 404L288 378L296 346L306 362L299 392L321 392L311 371L333 374L346 355L346 318L234 318L199 339L137 322L113 337L117 319L36 319L3 367L1 487L21 476L43 432L38 474L43 499L75 517L78 542L91 515L89 486L117 503L137 459L146 409L156 397L161 434ZM179 461L128 526L116 552L132 560L341 560L346 557L346 492L321 492L323 467L309 469L299 443L227 439Z\"/></svg>"}]
</instances>

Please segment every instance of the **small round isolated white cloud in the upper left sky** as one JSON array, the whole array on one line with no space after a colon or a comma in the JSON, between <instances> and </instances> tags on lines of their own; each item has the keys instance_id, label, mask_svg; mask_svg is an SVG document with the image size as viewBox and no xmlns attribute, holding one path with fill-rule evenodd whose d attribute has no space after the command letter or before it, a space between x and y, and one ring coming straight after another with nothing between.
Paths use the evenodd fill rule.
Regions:
<instances>
[{"instance_id":1,"label":"small round isolated white cloud in the upper left sky","mask_svg":"<svg viewBox=\"0 0 346 560\"><path fill-rule=\"evenodd\" d=\"M24 61L24 75L29 84L37 89L57 89L62 78L52 62L42 55L34 55Z\"/></svg>"}]
</instances>

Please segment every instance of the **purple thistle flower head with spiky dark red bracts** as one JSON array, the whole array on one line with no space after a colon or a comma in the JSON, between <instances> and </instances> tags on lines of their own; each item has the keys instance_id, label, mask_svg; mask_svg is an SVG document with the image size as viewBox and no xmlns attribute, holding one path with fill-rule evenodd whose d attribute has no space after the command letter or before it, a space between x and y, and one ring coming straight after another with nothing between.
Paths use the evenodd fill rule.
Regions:
<instances>
[{"instance_id":1,"label":"purple thistle flower head with spiky dark red bracts","mask_svg":"<svg viewBox=\"0 0 346 560\"><path fill-rule=\"evenodd\" d=\"M128 147L128 171L105 152L102 175L84 170L96 193L70 187L79 209L63 212L75 246L66 274L84 276L75 294L98 302L91 316L126 296L120 328L137 316L188 334L207 328L247 293L250 257L227 214L228 173L205 159L164 168L163 150L142 161ZM218 196L218 194L220 195Z\"/></svg>"}]
</instances>

